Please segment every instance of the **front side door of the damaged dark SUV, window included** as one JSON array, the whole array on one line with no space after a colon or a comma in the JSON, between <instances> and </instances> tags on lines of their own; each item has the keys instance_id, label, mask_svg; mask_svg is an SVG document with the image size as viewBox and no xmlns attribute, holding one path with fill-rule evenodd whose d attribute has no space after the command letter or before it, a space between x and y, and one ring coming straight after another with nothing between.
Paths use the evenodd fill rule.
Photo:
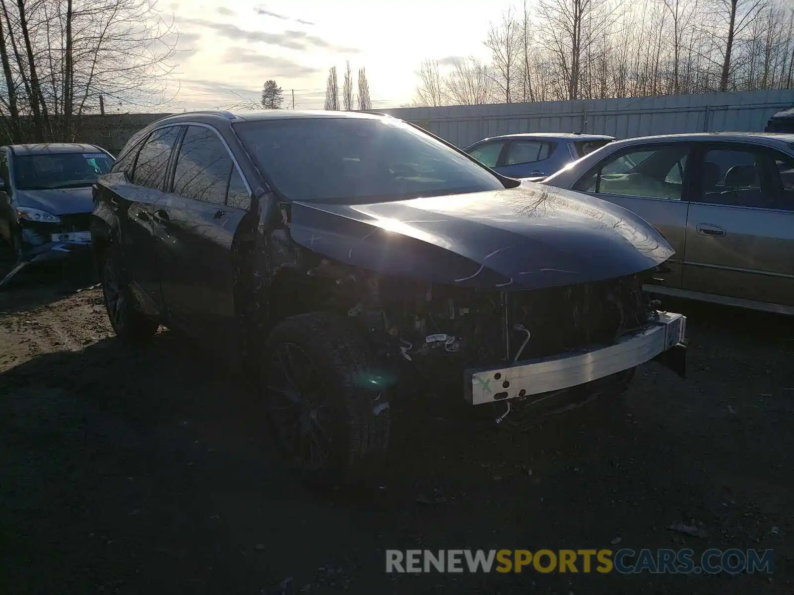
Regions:
<instances>
[{"instance_id":1,"label":"front side door of the damaged dark SUV, window included","mask_svg":"<svg viewBox=\"0 0 794 595\"><path fill-rule=\"evenodd\" d=\"M155 212L168 317L216 346L234 345L233 248L249 209L250 189L214 129L187 126L168 189Z\"/></svg>"}]
</instances>

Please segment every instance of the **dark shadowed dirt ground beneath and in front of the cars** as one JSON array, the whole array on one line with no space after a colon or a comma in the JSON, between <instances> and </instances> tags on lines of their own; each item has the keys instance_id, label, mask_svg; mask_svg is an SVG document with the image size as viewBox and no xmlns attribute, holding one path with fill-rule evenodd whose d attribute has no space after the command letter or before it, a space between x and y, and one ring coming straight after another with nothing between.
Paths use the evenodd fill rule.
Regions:
<instances>
[{"instance_id":1,"label":"dark shadowed dirt ground beneath and in front of the cars","mask_svg":"<svg viewBox=\"0 0 794 595\"><path fill-rule=\"evenodd\" d=\"M665 305L690 317L686 380L651 363L608 416L518 436L397 404L377 485L321 495L216 355L168 331L130 351L98 289L21 279L0 291L0 592L792 593L794 321ZM426 547L772 548L775 571L384 572Z\"/></svg>"}]
</instances>

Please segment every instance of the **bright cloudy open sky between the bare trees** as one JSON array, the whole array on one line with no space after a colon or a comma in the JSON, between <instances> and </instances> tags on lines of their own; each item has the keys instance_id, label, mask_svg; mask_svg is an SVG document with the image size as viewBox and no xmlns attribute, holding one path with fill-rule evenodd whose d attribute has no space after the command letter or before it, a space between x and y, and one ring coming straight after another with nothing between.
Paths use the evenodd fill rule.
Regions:
<instances>
[{"instance_id":1,"label":"bright cloudy open sky between the bare trees","mask_svg":"<svg viewBox=\"0 0 794 595\"><path fill-rule=\"evenodd\" d=\"M161 0L179 30L165 97L172 109L216 109L256 99L264 81L284 106L322 109L328 70L339 86L349 60L366 67L373 108L410 104L422 60L488 57L483 40L508 0ZM354 94L355 94L355 86Z\"/></svg>"}]
</instances>

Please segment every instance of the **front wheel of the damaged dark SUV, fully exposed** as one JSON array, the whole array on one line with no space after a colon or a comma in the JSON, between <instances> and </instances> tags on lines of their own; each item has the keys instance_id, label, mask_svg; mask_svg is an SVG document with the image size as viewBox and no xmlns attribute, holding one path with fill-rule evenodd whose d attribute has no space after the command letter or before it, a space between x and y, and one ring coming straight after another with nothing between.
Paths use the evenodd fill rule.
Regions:
<instances>
[{"instance_id":1,"label":"front wheel of the damaged dark SUV, fully exposed","mask_svg":"<svg viewBox=\"0 0 794 595\"><path fill-rule=\"evenodd\" d=\"M268 421L309 484L362 477L387 451L388 390L370 351L348 321L326 313L287 318L268 336L261 367Z\"/></svg>"}]
</instances>

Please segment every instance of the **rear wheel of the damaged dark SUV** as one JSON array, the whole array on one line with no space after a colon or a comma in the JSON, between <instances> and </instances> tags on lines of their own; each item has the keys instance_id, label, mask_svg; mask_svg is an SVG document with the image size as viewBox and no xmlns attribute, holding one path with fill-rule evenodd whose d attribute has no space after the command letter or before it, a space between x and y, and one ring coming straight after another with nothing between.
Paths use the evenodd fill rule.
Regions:
<instances>
[{"instance_id":1,"label":"rear wheel of the damaged dark SUV","mask_svg":"<svg viewBox=\"0 0 794 595\"><path fill-rule=\"evenodd\" d=\"M118 252L113 247L107 248L102 261L102 294L107 317L116 336L131 345L140 347L148 344L160 323L137 309Z\"/></svg>"}]
</instances>

